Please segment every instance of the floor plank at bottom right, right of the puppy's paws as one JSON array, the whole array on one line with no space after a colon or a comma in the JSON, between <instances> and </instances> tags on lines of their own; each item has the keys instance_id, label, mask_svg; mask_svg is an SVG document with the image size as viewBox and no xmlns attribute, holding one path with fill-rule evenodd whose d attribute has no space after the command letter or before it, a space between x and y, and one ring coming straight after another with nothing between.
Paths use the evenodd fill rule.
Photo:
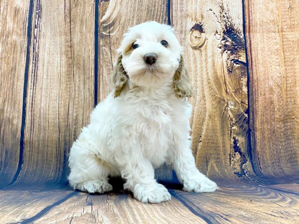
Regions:
<instances>
[{"instance_id":1,"label":"floor plank at bottom right, right of the puppy's paws","mask_svg":"<svg viewBox=\"0 0 299 224\"><path fill-rule=\"evenodd\" d=\"M239 183L214 194L177 192L196 211L208 214L211 223L294 224L299 222L299 194ZM215 219L213 221L212 219Z\"/></svg>"}]
</instances>

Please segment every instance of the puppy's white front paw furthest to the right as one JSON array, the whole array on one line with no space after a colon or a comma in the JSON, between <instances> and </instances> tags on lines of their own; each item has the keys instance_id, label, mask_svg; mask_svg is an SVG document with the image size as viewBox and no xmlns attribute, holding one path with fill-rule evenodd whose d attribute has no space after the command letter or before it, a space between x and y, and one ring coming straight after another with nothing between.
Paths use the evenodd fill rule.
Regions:
<instances>
[{"instance_id":1,"label":"puppy's white front paw furthest to the right","mask_svg":"<svg viewBox=\"0 0 299 224\"><path fill-rule=\"evenodd\" d=\"M204 175L196 179L191 179L188 181L184 180L183 191L187 191L187 192L194 191L196 193L202 193L202 192L213 192L216 189L218 189L217 184Z\"/></svg>"}]
</instances>

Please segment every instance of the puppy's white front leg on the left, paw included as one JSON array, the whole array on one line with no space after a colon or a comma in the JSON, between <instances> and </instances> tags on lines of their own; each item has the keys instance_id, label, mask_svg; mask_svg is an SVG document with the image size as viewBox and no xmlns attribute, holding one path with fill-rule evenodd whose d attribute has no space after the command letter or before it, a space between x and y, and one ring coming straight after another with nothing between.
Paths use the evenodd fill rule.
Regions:
<instances>
[{"instance_id":1,"label":"puppy's white front leg on the left, paw included","mask_svg":"<svg viewBox=\"0 0 299 224\"><path fill-rule=\"evenodd\" d=\"M126 179L124 189L133 192L134 197L143 203L160 203L170 200L167 189L156 182L154 170L139 147L123 150L120 158L122 177Z\"/></svg>"}]
</instances>

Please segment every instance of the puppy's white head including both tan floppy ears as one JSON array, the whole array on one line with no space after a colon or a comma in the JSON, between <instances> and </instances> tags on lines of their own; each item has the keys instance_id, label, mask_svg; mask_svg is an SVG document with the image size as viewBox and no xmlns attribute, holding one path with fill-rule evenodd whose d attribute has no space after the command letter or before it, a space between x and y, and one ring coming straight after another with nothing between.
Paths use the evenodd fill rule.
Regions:
<instances>
[{"instance_id":1,"label":"puppy's white head including both tan floppy ears","mask_svg":"<svg viewBox=\"0 0 299 224\"><path fill-rule=\"evenodd\" d=\"M173 28L154 21L130 28L118 49L113 82L115 97L128 82L142 87L172 83L177 98L191 97L191 84Z\"/></svg>"}]
</instances>

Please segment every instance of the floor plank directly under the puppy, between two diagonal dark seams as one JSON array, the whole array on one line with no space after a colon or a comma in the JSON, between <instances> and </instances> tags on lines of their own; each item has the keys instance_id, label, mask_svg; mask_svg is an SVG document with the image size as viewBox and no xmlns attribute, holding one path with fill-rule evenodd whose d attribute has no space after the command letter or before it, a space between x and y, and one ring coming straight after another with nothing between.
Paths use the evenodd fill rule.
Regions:
<instances>
[{"instance_id":1,"label":"floor plank directly under the puppy, between two diagonal dark seams","mask_svg":"<svg viewBox=\"0 0 299 224\"><path fill-rule=\"evenodd\" d=\"M71 211L71 213L70 213ZM117 223L117 224L204 224L178 200L163 204L143 204L132 195L88 195L80 193L65 201L35 223Z\"/></svg>"}]
</instances>

